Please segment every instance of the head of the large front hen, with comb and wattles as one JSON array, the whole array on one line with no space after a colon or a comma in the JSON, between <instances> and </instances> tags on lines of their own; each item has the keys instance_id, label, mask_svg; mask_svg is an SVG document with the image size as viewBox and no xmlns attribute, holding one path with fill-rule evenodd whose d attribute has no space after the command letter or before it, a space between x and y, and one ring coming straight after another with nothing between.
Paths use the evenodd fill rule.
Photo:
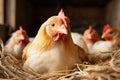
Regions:
<instances>
[{"instance_id":1,"label":"head of the large front hen, with comb and wattles","mask_svg":"<svg viewBox=\"0 0 120 80\"><path fill-rule=\"evenodd\" d=\"M57 16L50 17L41 27L45 27L46 34L54 41L65 40L69 33L69 19L65 16L63 10Z\"/></svg>"}]
</instances>

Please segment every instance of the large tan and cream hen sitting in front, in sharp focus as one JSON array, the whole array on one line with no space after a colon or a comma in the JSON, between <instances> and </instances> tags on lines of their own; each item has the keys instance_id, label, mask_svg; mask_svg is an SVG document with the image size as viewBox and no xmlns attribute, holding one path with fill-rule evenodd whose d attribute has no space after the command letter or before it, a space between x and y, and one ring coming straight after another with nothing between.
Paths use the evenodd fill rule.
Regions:
<instances>
[{"instance_id":1,"label":"large tan and cream hen sitting in front, in sharp focus","mask_svg":"<svg viewBox=\"0 0 120 80\"><path fill-rule=\"evenodd\" d=\"M74 45L69 29L69 19L61 10L58 16L44 22L35 39L24 49L23 68L38 73L71 69L85 60L84 50Z\"/></svg>"}]
</instances>

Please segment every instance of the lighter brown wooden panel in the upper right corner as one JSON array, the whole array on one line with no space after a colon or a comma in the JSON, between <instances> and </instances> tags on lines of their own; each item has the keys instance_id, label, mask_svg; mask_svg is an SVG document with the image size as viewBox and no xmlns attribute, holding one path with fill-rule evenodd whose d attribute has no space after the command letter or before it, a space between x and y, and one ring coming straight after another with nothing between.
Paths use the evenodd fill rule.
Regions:
<instances>
[{"instance_id":1,"label":"lighter brown wooden panel in the upper right corner","mask_svg":"<svg viewBox=\"0 0 120 80\"><path fill-rule=\"evenodd\" d=\"M120 30L120 0L113 0L106 6L106 22Z\"/></svg>"}]
</instances>

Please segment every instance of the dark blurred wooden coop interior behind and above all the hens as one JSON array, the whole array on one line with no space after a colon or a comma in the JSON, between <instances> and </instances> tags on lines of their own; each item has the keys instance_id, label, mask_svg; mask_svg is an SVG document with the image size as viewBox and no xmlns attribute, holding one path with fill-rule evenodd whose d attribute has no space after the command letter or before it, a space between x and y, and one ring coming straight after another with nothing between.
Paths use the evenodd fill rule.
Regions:
<instances>
[{"instance_id":1,"label":"dark blurred wooden coop interior behind and above all the hens","mask_svg":"<svg viewBox=\"0 0 120 80\"><path fill-rule=\"evenodd\" d=\"M89 25L99 35L105 24L119 29L120 0L0 0L0 37L6 41L20 25L34 37L41 24L61 8L73 32L83 33Z\"/></svg>"}]
</instances>

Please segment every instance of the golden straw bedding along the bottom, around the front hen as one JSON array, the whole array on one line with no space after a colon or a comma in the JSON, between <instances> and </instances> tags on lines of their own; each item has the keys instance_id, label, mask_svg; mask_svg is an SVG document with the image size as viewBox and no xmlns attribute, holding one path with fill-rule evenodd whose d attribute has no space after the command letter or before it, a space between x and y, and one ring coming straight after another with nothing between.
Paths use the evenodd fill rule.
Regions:
<instances>
[{"instance_id":1,"label":"golden straw bedding along the bottom, around the front hen","mask_svg":"<svg viewBox=\"0 0 120 80\"><path fill-rule=\"evenodd\" d=\"M1 42L1 41L0 41ZM119 80L120 50L89 54L83 64L75 64L73 70L54 74L38 74L32 70L24 71L23 62L0 49L0 80Z\"/></svg>"}]
</instances>

